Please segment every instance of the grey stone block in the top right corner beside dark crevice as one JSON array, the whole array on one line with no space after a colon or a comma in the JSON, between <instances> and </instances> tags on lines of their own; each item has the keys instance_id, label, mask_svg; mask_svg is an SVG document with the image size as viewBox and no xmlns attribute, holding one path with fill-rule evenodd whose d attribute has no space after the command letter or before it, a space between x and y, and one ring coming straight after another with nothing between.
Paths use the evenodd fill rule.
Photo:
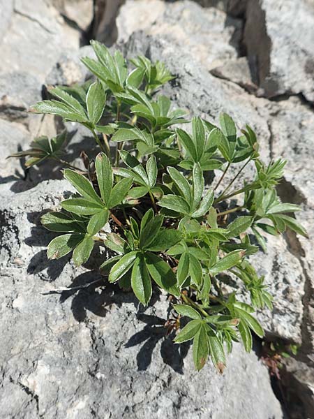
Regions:
<instances>
[{"instance_id":1,"label":"grey stone block in the top right corner beside dark crevice","mask_svg":"<svg viewBox=\"0 0 314 419\"><path fill-rule=\"evenodd\" d=\"M303 94L314 101L313 26L313 1L247 2L244 42L257 60L261 94Z\"/></svg>"}]
</instances>

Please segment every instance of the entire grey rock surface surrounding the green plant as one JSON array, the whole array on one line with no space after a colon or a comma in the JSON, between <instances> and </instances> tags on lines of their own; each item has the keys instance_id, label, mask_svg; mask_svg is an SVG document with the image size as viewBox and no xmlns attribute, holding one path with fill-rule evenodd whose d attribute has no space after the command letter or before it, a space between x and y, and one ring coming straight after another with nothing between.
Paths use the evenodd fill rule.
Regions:
<instances>
[{"instance_id":1,"label":"entire grey rock surface surrounding the green plant","mask_svg":"<svg viewBox=\"0 0 314 419\"><path fill-rule=\"evenodd\" d=\"M287 233L255 256L275 300L273 312L258 316L269 337L299 344L285 368L284 402L294 419L314 418L313 1L120 3L0 0L0 416L284 417L267 368L241 346L223 376L211 365L195 373L188 346L165 339L165 295L143 309L91 270L107 257L104 249L85 267L47 261L53 236L39 218L70 186L58 180L58 167L25 170L5 157L63 129L59 119L27 109L45 94L43 84L90 77L80 57L93 53L80 46L94 31L107 45L117 39L128 57L164 61L176 76L164 88L175 106L214 121L230 113L239 128L253 126L265 161L287 159L278 193L301 205L297 219L310 239ZM87 131L66 125L70 159L79 160L79 143L96 153Z\"/></svg>"}]
</instances>

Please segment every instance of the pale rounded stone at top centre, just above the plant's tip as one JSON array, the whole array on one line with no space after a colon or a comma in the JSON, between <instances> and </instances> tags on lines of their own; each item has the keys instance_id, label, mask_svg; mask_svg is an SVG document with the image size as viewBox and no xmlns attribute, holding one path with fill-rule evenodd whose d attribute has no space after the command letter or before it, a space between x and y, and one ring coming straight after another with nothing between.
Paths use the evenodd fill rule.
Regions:
<instances>
[{"instance_id":1,"label":"pale rounded stone at top centre, just above the plant's tip","mask_svg":"<svg viewBox=\"0 0 314 419\"><path fill-rule=\"evenodd\" d=\"M237 57L241 20L216 8L201 8L193 1L165 3L161 0L128 0L117 17L118 41L135 31L168 36L193 54L208 70Z\"/></svg>"}]
</instances>

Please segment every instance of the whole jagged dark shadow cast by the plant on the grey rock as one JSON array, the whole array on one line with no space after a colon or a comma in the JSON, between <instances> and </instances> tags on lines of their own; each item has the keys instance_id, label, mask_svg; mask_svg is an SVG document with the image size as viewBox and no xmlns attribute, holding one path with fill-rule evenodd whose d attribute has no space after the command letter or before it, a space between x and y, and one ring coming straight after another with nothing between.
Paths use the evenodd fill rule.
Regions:
<instances>
[{"instance_id":1,"label":"whole jagged dark shadow cast by the plant on the grey rock","mask_svg":"<svg viewBox=\"0 0 314 419\"><path fill-rule=\"evenodd\" d=\"M41 226L40 216L45 212L31 212L28 214L29 221L34 224L33 228L31 228L30 237L27 237L25 240L25 243L30 247L46 248L47 244L57 235ZM96 245L91 253L91 260L84 265L84 268L89 270L77 275L70 284L66 285L66 288L48 291L47 294L59 294L59 302L61 304L66 302L68 298L71 298L70 309L78 322L85 321L88 312L96 316L105 317L112 305L121 307L122 304L134 304L137 308L138 320L146 325L142 331L135 333L129 339L125 347L130 348L131 346L143 344L137 353L138 370L144 371L149 367L154 348L161 341L160 355L163 358L163 362L170 365L174 371L183 374L184 358L188 353L190 343L174 344L174 332L167 335L167 328L165 328L166 318L144 314L147 307L142 307L139 304L133 292L121 290L118 284L110 284L100 272L95 270L95 267L99 266L104 258L110 256L112 254ZM46 249L42 249L31 258L27 272L29 274L40 274L40 279L44 281L54 281L61 275L70 258L71 255L69 254L59 260L48 260ZM154 286L149 307L154 306L159 299L160 290ZM171 308L169 306L168 316L170 311Z\"/></svg>"}]
</instances>

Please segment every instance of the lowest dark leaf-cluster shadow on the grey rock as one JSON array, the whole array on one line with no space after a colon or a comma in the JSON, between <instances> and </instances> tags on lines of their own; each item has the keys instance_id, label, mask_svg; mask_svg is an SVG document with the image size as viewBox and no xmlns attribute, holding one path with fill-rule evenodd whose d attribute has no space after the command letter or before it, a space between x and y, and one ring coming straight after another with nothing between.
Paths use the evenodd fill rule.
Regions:
<instances>
[{"instance_id":1,"label":"lowest dark leaf-cluster shadow on the grey rock","mask_svg":"<svg viewBox=\"0 0 314 419\"><path fill-rule=\"evenodd\" d=\"M138 320L146 323L144 329L135 333L128 342L126 348L143 344L140 351L137 353L137 368L139 371L145 371L151 364L154 348L161 340L160 355L165 364L170 365L175 372L184 374L184 358L188 354L190 342L177 345L174 344L174 332L167 335L167 328L165 328L166 319L158 316L151 316L148 314L138 314Z\"/></svg>"}]
</instances>

